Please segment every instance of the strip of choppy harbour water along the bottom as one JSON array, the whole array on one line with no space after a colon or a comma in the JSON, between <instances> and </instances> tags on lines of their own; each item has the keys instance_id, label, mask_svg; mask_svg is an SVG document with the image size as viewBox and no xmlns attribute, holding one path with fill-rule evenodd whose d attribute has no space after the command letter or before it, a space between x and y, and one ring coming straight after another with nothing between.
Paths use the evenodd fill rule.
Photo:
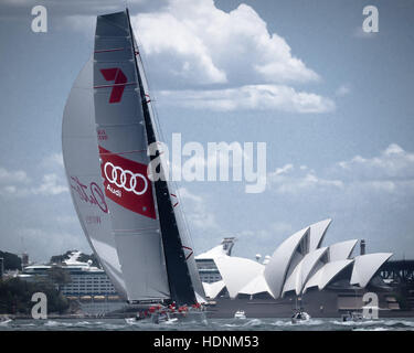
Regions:
<instances>
[{"instance_id":1,"label":"strip of choppy harbour water along the bottom","mask_svg":"<svg viewBox=\"0 0 414 353\"><path fill-rule=\"evenodd\" d=\"M300 324L293 324L288 319L209 319L170 324L128 323L124 319L13 320L0 323L0 331L414 331L414 319L364 322L311 319Z\"/></svg>"}]
</instances>

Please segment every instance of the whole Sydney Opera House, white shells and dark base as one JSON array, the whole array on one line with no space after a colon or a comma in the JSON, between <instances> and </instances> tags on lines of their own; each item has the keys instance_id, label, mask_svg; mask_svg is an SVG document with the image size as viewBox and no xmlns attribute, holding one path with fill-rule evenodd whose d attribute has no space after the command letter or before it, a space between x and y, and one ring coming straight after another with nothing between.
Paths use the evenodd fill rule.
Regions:
<instances>
[{"instance_id":1,"label":"whole Sydney Opera House, white shells and dark base","mask_svg":"<svg viewBox=\"0 0 414 353\"><path fill-rule=\"evenodd\" d=\"M358 239L325 245L330 224L321 221L293 234L263 263L231 256L232 242L197 256L212 310L223 317L237 309L252 317L290 315L299 299L314 315L337 317L361 309L367 291L379 296L378 306L392 310L395 298L375 276L392 254L364 254L362 245L353 256Z\"/></svg>"}]
</instances>

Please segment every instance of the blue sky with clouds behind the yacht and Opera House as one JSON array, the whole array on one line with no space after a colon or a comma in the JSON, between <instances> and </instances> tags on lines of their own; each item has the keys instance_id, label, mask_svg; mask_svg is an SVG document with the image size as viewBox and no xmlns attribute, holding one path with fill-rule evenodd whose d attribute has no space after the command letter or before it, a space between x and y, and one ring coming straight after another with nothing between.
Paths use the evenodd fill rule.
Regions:
<instances>
[{"instance_id":1,"label":"blue sky with clouds behind the yacht and Opera House","mask_svg":"<svg viewBox=\"0 0 414 353\"><path fill-rule=\"evenodd\" d=\"M47 33L31 31L35 4L49 11ZM361 30L367 4L379 9L379 33ZM62 113L96 14L123 6L0 4L1 249L36 260L91 252L64 179ZM246 194L243 182L179 184L197 253L233 235L237 255L272 254L331 217L327 245L364 238L369 252L414 257L412 1L128 6L167 142L181 132L204 146L267 143L264 193Z\"/></svg>"}]
</instances>

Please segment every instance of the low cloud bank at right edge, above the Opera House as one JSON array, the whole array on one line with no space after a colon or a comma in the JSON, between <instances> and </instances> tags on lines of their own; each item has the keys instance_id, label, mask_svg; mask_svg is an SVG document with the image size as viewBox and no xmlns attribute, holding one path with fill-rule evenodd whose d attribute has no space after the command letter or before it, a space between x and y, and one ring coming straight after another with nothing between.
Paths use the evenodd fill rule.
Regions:
<instances>
[{"instance_id":1,"label":"low cloud bank at right edge, above the Opera House","mask_svg":"<svg viewBox=\"0 0 414 353\"><path fill-rule=\"evenodd\" d=\"M414 192L414 153L391 143L379 156L355 156L322 170L288 163L268 174L268 186L278 193L322 191Z\"/></svg>"}]
</instances>

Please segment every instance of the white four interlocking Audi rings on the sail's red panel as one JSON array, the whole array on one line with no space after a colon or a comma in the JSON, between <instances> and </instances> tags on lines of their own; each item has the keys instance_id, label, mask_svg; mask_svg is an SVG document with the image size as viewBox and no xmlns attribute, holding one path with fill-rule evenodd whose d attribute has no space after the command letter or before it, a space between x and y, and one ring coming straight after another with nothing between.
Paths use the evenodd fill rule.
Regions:
<instances>
[{"instance_id":1,"label":"white four interlocking Audi rings on the sail's red panel","mask_svg":"<svg viewBox=\"0 0 414 353\"><path fill-rule=\"evenodd\" d=\"M108 175L108 168L109 168L109 175ZM131 191L136 195L142 195L148 189L148 181L141 173L132 173L130 170L124 170L120 167L116 167L110 162L105 163L104 173L105 173L106 180L109 183L115 184L118 188L121 188L126 191ZM127 181L128 175L129 175L129 182ZM119 183L118 183L118 176L120 181ZM142 179L144 181L144 186L142 186L142 190L140 191L136 190L137 184L138 184L138 180L137 180L138 178Z\"/></svg>"}]
</instances>

